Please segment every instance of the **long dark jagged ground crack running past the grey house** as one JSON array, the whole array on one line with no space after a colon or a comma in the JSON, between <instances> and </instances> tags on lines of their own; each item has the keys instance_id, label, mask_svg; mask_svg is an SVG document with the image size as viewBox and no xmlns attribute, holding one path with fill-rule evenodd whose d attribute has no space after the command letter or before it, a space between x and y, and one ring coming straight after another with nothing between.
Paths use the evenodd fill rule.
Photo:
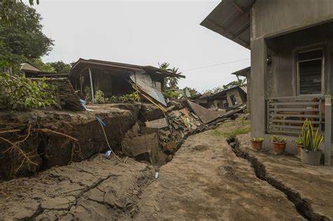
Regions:
<instances>
[{"instance_id":1,"label":"long dark jagged ground crack running past the grey house","mask_svg":"<svg viewBox=\"0 0 333 221\"><path fill-rule=\"evenodd\" d=\"M296 210L300 215L302 215L307 220L330 220L330 218L325 215L315 213L311 203L304 199L303 196L299 194L299 192L296 192L294 189L290 189L279 180L276 180L270 176L266 171L266 167L263 165L263 163L261 163L261 161L259 161L255 156L252 156L248 152L240 149L240 142L238 142L237 138L228 138L227 142L230 147L232 147L236 156L246 159L252 164L254 172L256 173L256 177L268 182L269 185L283 192L287 196L287 199L294 203Z\"/></svg>"}]
</instances>

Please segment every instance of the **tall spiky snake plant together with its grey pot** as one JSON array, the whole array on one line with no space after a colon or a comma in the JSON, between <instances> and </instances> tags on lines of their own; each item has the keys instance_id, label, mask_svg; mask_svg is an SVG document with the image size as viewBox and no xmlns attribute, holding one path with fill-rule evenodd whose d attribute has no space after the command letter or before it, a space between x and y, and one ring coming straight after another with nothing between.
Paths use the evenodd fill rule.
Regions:
<instances>
[{"instance_id":1,"label":"tall spiky snake plant together with its grey pot","mask_svg":"<svg viewBox=\"0 0 333 221\"><path fill-rule=\"evenodd\" d=\"M319 133L319 126L317 131L313 133L312 123L306 119L303 123L301 137L303 139L303 148L301 149L302 163L319 166L322 152L318 148L324 140L324 136Z\"/></svg>"}]
</instances>

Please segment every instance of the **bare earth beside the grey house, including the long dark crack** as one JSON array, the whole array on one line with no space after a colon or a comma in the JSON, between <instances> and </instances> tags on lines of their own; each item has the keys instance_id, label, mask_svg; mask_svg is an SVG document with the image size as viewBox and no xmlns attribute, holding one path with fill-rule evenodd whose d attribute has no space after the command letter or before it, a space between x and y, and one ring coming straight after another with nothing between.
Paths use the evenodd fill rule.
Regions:
<instances>
[{"instance_id":1,"label":"bare earth beside the grey house, including the long dark crack","mask_svg":"<svg viewBox=\"0 0 333 221\"><path fill-rule=\"evenodd\" d=\"M307 166L290 154L275 155L268 150L256 152L250 148L249 140L247 134L230 142L234 144L235 154L252 164L258 178L285 193L306 219L333 219L332 167Z\"/></svg>"}]
</instances>

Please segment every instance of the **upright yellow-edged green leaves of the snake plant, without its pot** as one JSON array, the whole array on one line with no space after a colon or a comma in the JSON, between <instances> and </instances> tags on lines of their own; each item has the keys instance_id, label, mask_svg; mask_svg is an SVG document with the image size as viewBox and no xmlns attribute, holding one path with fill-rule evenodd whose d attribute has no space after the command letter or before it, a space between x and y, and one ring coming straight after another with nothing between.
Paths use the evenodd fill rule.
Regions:
<instances>
[{"instance_id":1,"label":"upright yellow-edged green leaves of the snake plant, without its pot","mask_svg":"<svg viewBox=\"0 0 333 221\"><path fill-rule=\"evenodd\" d=\"M317 131L313 133L313 126L311 121L306 119L302 126L302 133L301 138L303 139L303 148L317 151L318 147L324 140L324 135L319 133L319 126L317 128Z\"/></svg>"}]
</instances>

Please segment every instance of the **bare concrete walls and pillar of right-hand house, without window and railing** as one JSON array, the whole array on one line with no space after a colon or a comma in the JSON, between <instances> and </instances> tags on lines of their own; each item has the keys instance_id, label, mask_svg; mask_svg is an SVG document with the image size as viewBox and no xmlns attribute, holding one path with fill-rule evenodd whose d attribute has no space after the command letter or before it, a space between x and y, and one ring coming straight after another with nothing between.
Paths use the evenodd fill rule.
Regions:
<instances>
[{"instance_id":1,"label":"bare concrete walls and pillar of right-hand house, without window and railing","mask_svg":"<svg viewBox=\"0 0 333 221\"><path fill-rule=\"evenodd\" d=\"M331 0L257 0L251 12L250 93L252 136L266 138L266 102L269 96L297 95L294 55L304 47L325 47L325 93L331 94L333 62ZM308 28L308 29L306 29ZM272 68L267 68L268 54ZM288 140L293 140L290 137ZM289 143L287 151L294 152Z\"/></svg>"}]
</instances>

